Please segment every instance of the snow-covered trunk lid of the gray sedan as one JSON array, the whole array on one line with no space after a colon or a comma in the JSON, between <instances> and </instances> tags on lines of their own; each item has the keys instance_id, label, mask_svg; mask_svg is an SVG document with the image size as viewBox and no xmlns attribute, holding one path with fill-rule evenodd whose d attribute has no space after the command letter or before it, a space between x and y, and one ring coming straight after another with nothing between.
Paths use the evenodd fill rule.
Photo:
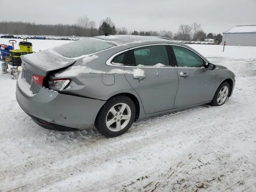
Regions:
<instances>
[{"instance_id":1,"label":"snow-covered trunk lid of the gray sedan","mask_svg":"<svg viewBox=\"0 0 256 192\"><path fill-rule=\"evenodd\" d=\"M56 69L61 69L66 66L69 66L76 59L73 58L64 58L62 56L56 55L49 50L44 50L32 54L26 54L21 56L22 60L25 62L36 66L44 71L52 71Z\"/></svg>"}]
</instances>

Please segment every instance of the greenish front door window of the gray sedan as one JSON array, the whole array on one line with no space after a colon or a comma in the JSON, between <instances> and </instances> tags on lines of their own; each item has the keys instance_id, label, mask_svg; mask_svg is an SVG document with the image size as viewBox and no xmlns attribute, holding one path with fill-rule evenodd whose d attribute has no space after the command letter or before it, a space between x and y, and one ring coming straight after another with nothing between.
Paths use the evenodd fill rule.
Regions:
<instances>
[{"instance_id":1,"label":"greenish front door window of the gray sedan","mask_svg":"<svg viewBox=\"0 0 256 192\"><path fill-rule=\"evenodd\" d=\"M202 67L203 59L196 53L180 46L172 46L178 67Z\"/></svg>"}]
</instances>

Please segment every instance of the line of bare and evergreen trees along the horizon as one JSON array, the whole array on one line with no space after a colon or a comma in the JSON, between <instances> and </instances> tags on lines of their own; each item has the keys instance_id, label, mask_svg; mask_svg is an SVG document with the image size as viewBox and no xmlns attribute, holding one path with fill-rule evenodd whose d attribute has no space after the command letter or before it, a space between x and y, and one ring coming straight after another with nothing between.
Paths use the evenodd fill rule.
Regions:
<instances>
[{"instance_id":1,"label":"line of bare and evergreen trees along the horizon","mask_svg":"<svg viewBox=\"0 0 256 192\"><path fill-rule=\"evenodd\" d=\"M27 35L54 35L54 36L97 36L109 34L131 34L141 36L163 36L174 40L200 40L206 38L214 40L222 40L221 34L209 33L206 34L201 28L201 24L196 22L192 24L181 24L176 33L170 30L160 31L131 31L127 28L116 28L116 25L107 17L100 21L99 28L96 27L96 22L90 20L87 15L77 19L77 22L72 25L64 24L36 24L30 22L0 22L0 33L3 34L27 34Z\"/></svg>"}]
</instances>

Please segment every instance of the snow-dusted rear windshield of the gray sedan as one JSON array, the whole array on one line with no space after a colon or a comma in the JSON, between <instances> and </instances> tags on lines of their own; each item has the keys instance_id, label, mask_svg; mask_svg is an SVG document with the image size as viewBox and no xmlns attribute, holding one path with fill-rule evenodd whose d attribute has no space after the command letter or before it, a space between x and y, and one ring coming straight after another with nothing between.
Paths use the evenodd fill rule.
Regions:
<instances>
[{"instance_id":1,"label":"snow-dusted rear windshield of the gray sedan","mask_svg":"<svg viewBox=\"0 0 256 192\"><path fill-rule=\"evenodd\" d=\"M73 58L92 54L114 46L116 46L116 44L106 40L84 38L67 44L62 44L53 48L53 50L64 57Z\"/></svg>"}]
</instances>

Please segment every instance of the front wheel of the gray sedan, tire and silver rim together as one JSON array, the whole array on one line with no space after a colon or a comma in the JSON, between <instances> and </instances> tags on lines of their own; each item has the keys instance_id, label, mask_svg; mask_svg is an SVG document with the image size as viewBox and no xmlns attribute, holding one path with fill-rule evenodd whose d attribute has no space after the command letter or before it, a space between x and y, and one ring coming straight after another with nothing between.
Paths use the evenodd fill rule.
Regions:
<instances>
[{"instance_id":1,"label":"front wheel of the gray sedan, tire and silver rim together","mask_svg":"<svg viewBox=\"0 0 256 192\"><path fill-rule=\"evenodd\" d=\"M228 82L224 82L220 84L210 104L212 106L223 105L228 99L229 92L230 92L230 85Z\"/></svg>"}]
</instances>

